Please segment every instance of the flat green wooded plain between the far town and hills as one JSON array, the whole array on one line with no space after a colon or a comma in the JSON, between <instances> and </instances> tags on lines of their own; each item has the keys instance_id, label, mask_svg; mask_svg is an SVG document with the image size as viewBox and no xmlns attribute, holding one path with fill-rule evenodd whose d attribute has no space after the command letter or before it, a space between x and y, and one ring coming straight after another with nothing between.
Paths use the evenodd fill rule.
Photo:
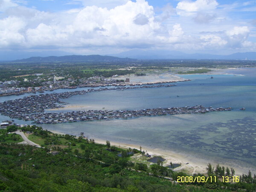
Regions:
<instances>
[{"instance_id":1,"label":"flat green wooded plain between the far town and hills","mask_svg":"<svg viewBox=\"0 0 256 192\"><path fill-rule=\"evenodd\" d=\"M81 79L96 75L111 77L113 75L144 74L160 70L168 72L173 67L255 67L256 61L253 60L123 60L123 61L87 61L87 62L22 62L22 63L0 63L0 81L20 80L24 78L31 80L34 74L40 76L40 82L52 80L54 76L71 77ZM126 69L125 69L126 68ZM128 70L128 68L130 68ZM122 69L122 70L121 70ZM125 70L123 70L125 69ZM197 70L196 70L197 71ZM193 71L193 73L195 73ZM200 73L200 71L196 72ZM190 73L187 73L190 74ZM22 75L28 75L23 76ZM21 76L21 77L15 77ZM27 86L26 82L22 86ZM33 86L33 85L28 85Z\"/></svg>"}]
</instances>

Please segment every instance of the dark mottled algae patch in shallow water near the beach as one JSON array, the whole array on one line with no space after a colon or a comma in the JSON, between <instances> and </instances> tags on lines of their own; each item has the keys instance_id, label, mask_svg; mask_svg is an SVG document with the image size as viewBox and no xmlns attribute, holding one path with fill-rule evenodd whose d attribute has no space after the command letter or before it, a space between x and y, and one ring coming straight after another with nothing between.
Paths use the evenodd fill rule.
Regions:
<instances>
[{"instance_id":1,"label":"dark mottled algae patch in shallow water near the beach","mask_svg":"<svg viewBox=\"0 0 256 192\"><path fill-rule=\"evenodd\" d=\"M170 138L172 146L256 163L256 121L250 117L172 132Z\"/></svg>"}]
</instances>

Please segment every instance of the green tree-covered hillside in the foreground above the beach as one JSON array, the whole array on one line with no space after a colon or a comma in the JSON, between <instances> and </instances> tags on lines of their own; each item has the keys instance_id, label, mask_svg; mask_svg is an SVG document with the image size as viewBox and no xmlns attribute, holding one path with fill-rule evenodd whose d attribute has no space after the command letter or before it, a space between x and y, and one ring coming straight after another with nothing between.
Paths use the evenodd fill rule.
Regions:
<instances>
[{"instance_id":1,"label":"green tree-covered hillside in the foreground above the beach","mask_svg":"<svg viewBox=\"0 0 256 192\"><path fill-rule=\"evenodd\" d=\"M15 130L17 127L9 127ZM37 126L19 128L33 132L34 141L41 142L44 148L0 143L0 190L14 192L206 192L206 191L254 191L256 176L249 172L242 175L239 183L187 182L174 183L183 172L174 172L163 167L162 162L148 166L145 163L132 163L129 159L137 149L120 149L97 144L93 139L75 138L72 135L57 135ZM7 137L7 130L0 131ZM40 140L39 138L42 138ZM216 169L209 164L208 175L217 178L233 175L233 169ZM201 174L191 176L203 177ZM192 179L191 178L191 179Z\"/></svg>"}]
</instances>

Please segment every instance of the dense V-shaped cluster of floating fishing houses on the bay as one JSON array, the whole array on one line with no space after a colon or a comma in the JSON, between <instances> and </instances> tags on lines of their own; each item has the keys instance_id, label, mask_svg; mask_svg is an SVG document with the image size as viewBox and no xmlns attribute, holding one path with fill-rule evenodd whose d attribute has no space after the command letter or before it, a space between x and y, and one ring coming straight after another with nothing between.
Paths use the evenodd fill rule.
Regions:
<instances>
[{"instance_id":1,"label":"dense V-shaped cluster of floating fishing houses on the bay","mask_svg":"<svg viewBox=\"0 0 256 192\"><path fill-rule=\"evenodd\" d=\"M109 120L114 118L128 118L151 115L177 115L189 113L206 113L212 111L230 111L232 108L212 108L204 106L186 106L172 108L157 108L157 109L142 109L142 110L88 110L88 111L73 111L73 112L44 112L44 109L60 109L66 104L61 99L69 98L74 95L85 95L89 92L100 92L108 90L121 91L124 89L143 89L154 87L171 87L175 85L153 85L153 86L130 86L130 87L114 87L114 88L99 88L88 89L74 92L51 93L41 95L30 95L15 100L8 100L0 103L0 112L2 115L11 118L30 120L33 123L65 123L88 120Z\"/></svg>"}]
</instances>

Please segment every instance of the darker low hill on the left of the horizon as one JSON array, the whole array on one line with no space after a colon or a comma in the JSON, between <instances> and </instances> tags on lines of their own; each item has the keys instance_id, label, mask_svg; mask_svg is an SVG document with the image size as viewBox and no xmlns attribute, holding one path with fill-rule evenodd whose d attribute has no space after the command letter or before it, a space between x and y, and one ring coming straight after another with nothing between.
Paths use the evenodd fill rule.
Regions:
<instances>
[{"instance_id":1,"label":"darker low hill on the left of the horizon","mask_svg":"<svg viewBox=\"0 0 256 192\"><path fill-rule=\"evenodd\" d=\"M13 62L79 62L79 61L128 61L131 58L120 58L102 55L66 55L49 57L29 57L27 59L14 60Z\"/></svg>"}]
</instances>

